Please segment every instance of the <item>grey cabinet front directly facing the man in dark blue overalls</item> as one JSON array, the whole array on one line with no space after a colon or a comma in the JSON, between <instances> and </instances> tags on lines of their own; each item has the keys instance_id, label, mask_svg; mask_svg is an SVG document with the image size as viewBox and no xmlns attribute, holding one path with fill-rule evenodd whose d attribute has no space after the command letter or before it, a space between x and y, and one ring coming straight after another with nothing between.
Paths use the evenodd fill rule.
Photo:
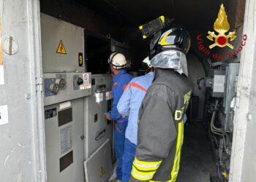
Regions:
<instances>
[{"instance_id":1,"label":"grey cabinet front directly facing the man in dark blue overalls","mask_svg":"<svg viewBox=\"0 0 256 182\"><path fill-rule=\"evenodd\" d=\"M111 79L108 75L92 75L91 96L85 99L86 159L106 140L113 143L113 124L105 118L111 109Z\"/></svg>"}]
</instances>

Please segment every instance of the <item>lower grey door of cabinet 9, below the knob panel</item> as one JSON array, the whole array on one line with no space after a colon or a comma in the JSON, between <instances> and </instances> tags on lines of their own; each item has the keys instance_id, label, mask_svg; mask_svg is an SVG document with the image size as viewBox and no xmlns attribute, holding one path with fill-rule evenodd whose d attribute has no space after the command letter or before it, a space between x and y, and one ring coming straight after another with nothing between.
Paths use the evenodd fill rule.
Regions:
<instances>
[{"instance_id":1,"label":"lower grey door of cabinet 9, below the knob panel","mask_svg":"<svg viewBox=\"0 0 256 182\"><path fill-rule=\"evenodd\" d=\"M45 120L45 155L48 182L84 182L84 148L81 139L81 136L84 135L83 98L70 100L70 103L72 114L70 113L71 108L59 111L59 103L45 106L45 111L52 108L57 108L59 111L58 116ZM59 120L64 119L64 117L69 118L66 119L67 122L70 120L72 122L59 127ZM72 151L72 160L71 155L67 155L70 151Z\"/></svg>"}]
</instances>

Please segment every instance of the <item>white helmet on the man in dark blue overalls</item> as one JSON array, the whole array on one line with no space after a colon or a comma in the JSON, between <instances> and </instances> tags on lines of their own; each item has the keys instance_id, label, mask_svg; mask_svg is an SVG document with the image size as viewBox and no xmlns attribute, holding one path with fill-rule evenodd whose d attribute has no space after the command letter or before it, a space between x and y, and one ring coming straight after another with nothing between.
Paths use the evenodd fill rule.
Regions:
<instances>
[{"instance_id":1,"label":"white helmet on the man in dark blue overalls","mask_svg":"<svg viewBox=\"0 0 256 182\"><path fill-rule=\"evenodd\" d=\"M113 52L108 58L108 63L113 66L113 68L121 69L127 67L127 60L124 55L118 52Z\"/></svg>"}]
</instances>

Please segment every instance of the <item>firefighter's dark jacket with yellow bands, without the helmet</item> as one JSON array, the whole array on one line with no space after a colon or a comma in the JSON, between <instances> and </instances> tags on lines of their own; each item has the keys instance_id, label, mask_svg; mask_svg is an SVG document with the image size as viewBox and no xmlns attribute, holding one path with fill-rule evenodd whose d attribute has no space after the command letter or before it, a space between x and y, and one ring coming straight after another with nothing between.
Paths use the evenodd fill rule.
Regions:
<instances>
[{"instance_id":1,"label":"firefighter's dark jacket with yellow bands, without the helmet","mask_svg":"<svg viewBox=\"0 0 256 182\"><path fill-rule=\"evenodd\" d=\"M176 181L183 116L192 94L186 76L171 69L157 68L138 116L138 145L130 182Z\"/></svg>"}]
</instances>

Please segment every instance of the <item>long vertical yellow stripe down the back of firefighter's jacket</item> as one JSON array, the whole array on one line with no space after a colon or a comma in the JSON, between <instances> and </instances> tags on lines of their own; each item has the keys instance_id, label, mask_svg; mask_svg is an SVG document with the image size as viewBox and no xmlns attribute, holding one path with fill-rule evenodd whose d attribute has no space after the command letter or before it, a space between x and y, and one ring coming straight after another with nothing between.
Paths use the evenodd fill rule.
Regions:
<instances>
[{"instance_id":1,"label":"long vertical yellow stripe down the back of firefighter's jacket","mask_svg":"<svg viewBox=\"0 0 256 182\"><path fill-rule=\"evenodd\" d=\"M183 137L184 137L184 122L182 121L178 123L178 138L177 138L177 144L176 144L176 154L173 162L173 170L171 171L170 182L175 182L178 175Z\"/></svg>"}]
</instances>

